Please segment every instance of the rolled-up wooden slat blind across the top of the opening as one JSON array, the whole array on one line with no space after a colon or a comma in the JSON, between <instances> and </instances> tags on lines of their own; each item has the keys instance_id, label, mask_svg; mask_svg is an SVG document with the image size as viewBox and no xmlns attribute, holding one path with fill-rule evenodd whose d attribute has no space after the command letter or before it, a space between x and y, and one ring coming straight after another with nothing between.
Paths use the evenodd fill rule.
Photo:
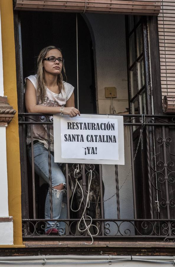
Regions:
<instances>
[{"instance_id":1,"label":"rolled-up wooden slat blind across the top of the opening","mask_svg":"<svg viewBox=\"0 0 175 267\"><path fill-rule=\"evenodd\" d=\"M14 0L15 10L158 15L160 0Z\"/></svg>"}]
</instances>

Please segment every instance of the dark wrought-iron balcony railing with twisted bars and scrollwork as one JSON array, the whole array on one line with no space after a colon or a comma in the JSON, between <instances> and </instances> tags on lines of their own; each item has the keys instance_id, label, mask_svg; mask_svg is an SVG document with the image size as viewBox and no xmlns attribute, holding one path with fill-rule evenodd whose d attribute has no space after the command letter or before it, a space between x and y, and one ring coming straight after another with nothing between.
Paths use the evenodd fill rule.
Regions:
<instances>
[{"instance_id":1,"label":"dark wrought-iron balcony railing with twisted bars and scrollwork","mask_svg":"<svg viewBox=\"0 0 175 267\"><path fill-rule=\"evenodd\" d=\"M144 118L145 121L141 115L124 115L125 131L129 134L130 139L125 139L125 142L128 143L127 146L130 151L128 164L131 164L131 167L125 170L126 167L122 166L118 170L117 165L108 166L108 168L113 168L115 177L111 188L104 181L105 172L102 165L72 163L62 165L67 184L65 195L67 200L64 201L67 202L67 219L55 220L52 219L50 169L52 153L50 151L50 127L53 125L53 117L43 114L19 114L23 240L90 241L93 238L96 241L160 240L175 242L175 117L171 115L145 115ZM46 125L48 133L49 187L43 183L40 177L37 177L34 171L32 133L33 125L39 124ZM31 166L26 156L26 127L31 130ZM123 171L126 171L127 175L121 182L120 176ZM90 173L92 173L90 206L86 209L84 220L81 220L78 227L78 222L86 205ZM128 177L131 178L130 183L133 190L131 192L130 187L126 187L124 194L121 193L120 189L127 184ZM72 183L75 185L76 179L81 184L83 192L78 186L73 195ZM109 187L108 191L107 186ZM50 192L51 219L44 219L44 201L48 190ZM108 194L105 193L106 191ZM110 195L109 192L111 192ZM126 194L128 195L127 201L125 200ZM82 195L84 198L81 203ZM72 198L75 200L74 207L71 205ZM110 203L111 199L113 199L112 204L107 205L106 203ZM127 206L130 204L133 208L128 213ZM79 206L78 212L72 211L72 209L77 210ZM116 211L113 213L115 216L107 217L110 209ZM50 233L45 235L44 230L48 221L66 225L65 233L62 234L62 228L60 228L58 235Z\"/></svg>"}]
</instances>

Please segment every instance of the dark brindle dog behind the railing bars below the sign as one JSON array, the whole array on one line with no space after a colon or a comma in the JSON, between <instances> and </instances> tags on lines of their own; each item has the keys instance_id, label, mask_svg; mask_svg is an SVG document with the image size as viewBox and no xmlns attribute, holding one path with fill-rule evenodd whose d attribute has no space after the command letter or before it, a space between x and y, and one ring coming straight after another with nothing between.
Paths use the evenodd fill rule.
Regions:
<instances>
[{"instance_id":1,"label":"dark brindle dog behind the railing bars below the sign","mask_svg":"<svg viewBox=\"0 0 175 267\"><path fill-rule=\"evenodd\" d=\"M76 185L76 179L74 178L74 172L76 169L77 164L71 164L68 163L68 176L69 176L69 187L71 189L71 192L73 193L74 189L75 189L75 185ZM81 164L79 164L79 168L80 166L82 166ZM64 164L63 166L63 173L66 176L66 164ZM92 180L91 180L91 186L90 186L90 193L89 193L89 201L90 201L90 206L89 208L86 209L86 214L91 216L92 219L100 219L101 218L101 208L100 208L100 176L99 173L94 169L94 165L92 164L85 164L85 172L88 172L90 169L92 169ZM93 170L94 169L94 170ZM82 169L77 173L77 177L78 177L78 182L80 183L81 187L82 187ZM88 192L88 178L89 178L89 174L86 175L86 195ZM103 196L104 196L104 183L102 181L102 188L103 188ZM85 196L86 198L86 196ZM72 200L72 209L73 210L77 210L80 206L81 203L81 199L82 199L82 192L81 189L79 188L79 185L77 185L73 200L72 200L72 196L69 200L70 203L70 207L71 207L71 200ZM84 206L85 206L85 201L84 200L81 203L81 208L77 211L77 212L73 212L70 208L70 217L71 219L80 219L83 212L84 212ZM101 232L101 226L98 222L93 222L94 225L97 226L97 228L99 229L99 234ZM73 222L71 224L71 233L74 235L76 233L76 226L77 226L77 222ZM82 227L82 229L84 228L84 224L83 222L80 224L80 228ZM93 227L94 229L94 233L97 233L97 228Z\"/></svg>"}]
</instances>

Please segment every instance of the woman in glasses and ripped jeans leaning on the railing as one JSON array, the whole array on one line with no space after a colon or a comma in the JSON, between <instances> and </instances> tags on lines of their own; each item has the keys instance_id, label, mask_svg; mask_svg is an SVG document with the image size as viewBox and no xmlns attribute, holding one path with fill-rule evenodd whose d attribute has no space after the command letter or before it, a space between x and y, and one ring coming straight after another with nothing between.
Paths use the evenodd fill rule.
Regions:
<instances>
[{"instance_id":1,"label":"woman in glasses and ripped jeans leaning on the railing","mask_svg":"<svg viewBox=\"0 0 175 267\"><path fill-rule=\"evenodd\" d=\"M80 112L74 104L74 87L63 82L62 69L65 74L64 59L61 50L55 46L48 46L41 50L37 60L37 74L25 78L25 106L27 112L80 116ZM50 129L50 148L53 151L53 128ZM33 125L34 140L34 165L35 172L49 181L48 171L48 144L47 128L45 125ZM30 131L27 132L27 151L31 162L31 138ZM66 179L60 169L59 163L54 162L51 155L52 168L52 201L53 218L67 216L62 204ZM45 219L50 219L49 191L45 201ZM62 209L61 209L62 207ZM62 213L60 216L60 213ZM64 215L63 215L64 214ZM63 219L64 219L63 218ZM45 234L65 233L65 224L58 222L46 222Z\"/></svg>"}]
</instances>

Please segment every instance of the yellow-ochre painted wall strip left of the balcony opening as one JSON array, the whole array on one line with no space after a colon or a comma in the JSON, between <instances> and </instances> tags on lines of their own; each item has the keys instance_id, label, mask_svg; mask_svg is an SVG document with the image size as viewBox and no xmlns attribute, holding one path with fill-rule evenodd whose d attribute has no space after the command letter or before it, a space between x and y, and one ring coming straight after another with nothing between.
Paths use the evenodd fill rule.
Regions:
<instances>
[{"instance_id":1,"label":"yellow-ochre painted wall strip left of the balcony opening","mask_svg":"<svg viewBox=\"0 0 175 267\"><path fill-rule=\"evenodd\" d=\"M12 0L0 0L4 96L17 107L17 84ZM19 158L18 115L6 128L9 216L14 220L14 244L22 244L21 174Z\"/></svg>"}]
</instances>

